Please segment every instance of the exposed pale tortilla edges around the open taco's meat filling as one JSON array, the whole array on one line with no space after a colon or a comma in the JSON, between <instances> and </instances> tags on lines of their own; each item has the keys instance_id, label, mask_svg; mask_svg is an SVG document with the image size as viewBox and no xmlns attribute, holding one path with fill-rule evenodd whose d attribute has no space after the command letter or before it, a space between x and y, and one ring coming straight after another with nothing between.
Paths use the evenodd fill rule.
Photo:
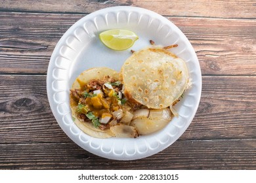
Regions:
<instances>
[{"instance_id":1,"label":"exposed pale tortilla edges around the open taco's meat filling","mask_svg":"<svg viewBox=\"0 0 256 183\"><path fill-rule=\"evenodd\" d=\"M75 90L75 89L80 90L83 86L85 86L91 80L93 79L101 80L102 78L104 78L104 76L111 76L112 78L119 80L119 74L113 69L109 69L107 67L97 67L97 68L83 71L83 73L81 73L75 79L75 82L72 85L71 90ZM77 127L79 127L79 129L81 129L82 131L84 131L85 133L87 133L92 137L108 138L113 136L109 130L98 129L92 123L84 122L83 120L79 119L77 117L77 112L76 112L77 101L75 101L72 97L70 97L70 107L72 109L72 116L73 116L74 123L77 125Z\"/></svg>"}]
</instances>

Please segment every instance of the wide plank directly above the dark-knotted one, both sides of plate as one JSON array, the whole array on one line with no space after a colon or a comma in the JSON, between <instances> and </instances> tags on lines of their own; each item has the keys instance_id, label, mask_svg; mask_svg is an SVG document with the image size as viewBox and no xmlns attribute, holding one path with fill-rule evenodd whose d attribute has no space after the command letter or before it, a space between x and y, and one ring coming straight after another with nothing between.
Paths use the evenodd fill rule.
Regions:
<instances>
[{"instance_id":1,"label":"wide plank directly above the dark-knotted one, both sides of plate","mask_svg":"<svg viewBox=\"0 0 256 183\"><path fill-rule=\"evenodd\" d=\"M47 73L54 46L83 16L1 12L0 73ZM256 74L255 19L169 17L169 20L194 46L203 75Z\"/></svg>"}]
</instances>

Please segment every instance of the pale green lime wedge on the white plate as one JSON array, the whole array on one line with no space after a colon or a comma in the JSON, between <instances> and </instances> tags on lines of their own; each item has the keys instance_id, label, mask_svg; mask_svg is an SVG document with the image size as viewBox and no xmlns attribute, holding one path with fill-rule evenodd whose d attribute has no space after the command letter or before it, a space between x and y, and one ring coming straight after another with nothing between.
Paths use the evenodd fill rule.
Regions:
<instances>
[{"instance_id":1,"label":"pale green lime wedge on the white plate","mask_svg":"<svg viewBox=\"0 0 256 183\"><path fill-rule=\"evenodd\" d=\"M139 37L125 29L110 29L99 35L100 41L112 50L126 50L133 46Z\"/></svg>"}]
</instances>

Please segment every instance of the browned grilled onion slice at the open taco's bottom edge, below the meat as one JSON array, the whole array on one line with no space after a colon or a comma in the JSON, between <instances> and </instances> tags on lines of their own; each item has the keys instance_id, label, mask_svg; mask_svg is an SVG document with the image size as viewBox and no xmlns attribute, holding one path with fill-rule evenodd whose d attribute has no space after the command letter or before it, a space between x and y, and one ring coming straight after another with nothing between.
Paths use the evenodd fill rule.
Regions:
<instances>
[{"instance_id":1,"label":"browned grilled onion slice at the open taco's bottom edge, below the meat","mask_svg":"<svg viewBox=\"0 0 256 183\"><path fill-rule=\"evenodd\" d=\"M139 136L135 127L130 125L114 125L110 127L110 131L115 137L135 138Z\"/></svg>"}]
</instances>

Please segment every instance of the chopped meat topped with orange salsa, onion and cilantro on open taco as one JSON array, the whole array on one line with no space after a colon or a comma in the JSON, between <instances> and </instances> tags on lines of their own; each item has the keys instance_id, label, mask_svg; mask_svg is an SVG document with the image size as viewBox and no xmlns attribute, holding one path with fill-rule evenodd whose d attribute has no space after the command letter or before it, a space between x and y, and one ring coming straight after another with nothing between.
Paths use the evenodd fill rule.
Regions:
<instances>
[{"instance_id":1,"label":"chopped meat topped with orange salsa, onion and cilantro on open taco","mask_svg":"<svg viewBox=\"0 0 256 183\"><path fill-rule=\"evenodd\" d=\"M123 84L106 76L102 80L93 79L81 90L70 90L71 97L77 105L77 117L85 122L93 122L95 127L109 129L112 113L121 108L125 99L121 93Z\"/></svg>"}]
</instances>

